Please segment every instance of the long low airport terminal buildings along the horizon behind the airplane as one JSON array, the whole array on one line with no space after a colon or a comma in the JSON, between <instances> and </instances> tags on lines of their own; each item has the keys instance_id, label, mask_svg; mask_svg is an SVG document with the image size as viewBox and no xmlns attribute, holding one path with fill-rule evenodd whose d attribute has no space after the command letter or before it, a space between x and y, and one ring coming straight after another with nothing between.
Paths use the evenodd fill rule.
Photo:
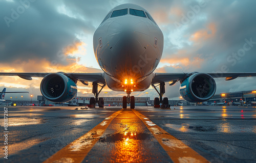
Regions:
<instances>
[{"instance_id":1,"label":"long low airport terminal buildings along the horizon behind the airplane","mask_svg":"<svg viewBox=\"0 0 256 163\"><path fill-rule=\"evenodd\" d=\"M75 97L68 103L65 103L66 105L71 106L79 106L79 105L87 105L90 102L91 97ZM108 106L122 106L122 97L103 97L104 98L104 105ZM6 100L6 102L13 104L16 103L16 105L30 105L30 104L54 104L53 102L50 102L46 100L43 96L37 96L37 101L31 101L31 100ZM32 103L31 103L32 102ZM222 94L216 94L214 95L210 100L204 102L204 103L190 103L185 101L184 99L180 100L169 100L170 106L175 105L197 105L197 104L205 104L205 103L229 103L229 102L244 102L245 104L251 104L254 105L256 103L256 91L250 90L250 91L240 91L240 92L230 92L230 93L222 93ZM150 97L135 97L135 106L153 106L154 105L154 99L150 99Z\"/></svg>"}]
</instances>

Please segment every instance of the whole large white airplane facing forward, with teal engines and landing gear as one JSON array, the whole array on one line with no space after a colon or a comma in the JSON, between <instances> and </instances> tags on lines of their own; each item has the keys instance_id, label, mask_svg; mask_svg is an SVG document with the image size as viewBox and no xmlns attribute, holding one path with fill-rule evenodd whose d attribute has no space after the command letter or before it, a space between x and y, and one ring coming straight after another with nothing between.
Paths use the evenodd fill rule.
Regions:
<instances>
[{"instance_id":1,"label":"whole large white airplane facing forward, with teal engines and landing gear","mask_svg":"<svg viewBox=\"0 0 256 163\"><path fill-rule=\"evenodd\" d=\"M43 77L41 94L53 102L72 100L77 94L77 82L86 86L90 82L95 95L95 98L90 99L90 105L98 103L99 107L103 107L104 100L98 95L108 86L113 91L126 92L127 96L123 96L123 108L127 107L127 103L135 108L135 97L131 93L144 91L150 86L159 95L154 99L154 106L160 107L160 104L168 104L168 98L163 98L167 82L169 86L180 82L180 95L186 101L204 102L216 92L214 78L233 80L237 77L256 76L256 73L155 73L162 57L163 44L163 33L148 11L135 4L122 4L106 14L93 36L95 58L103 72L12 72L0 75L17 75L27 80Z\"/></svg>"}]
</instances>

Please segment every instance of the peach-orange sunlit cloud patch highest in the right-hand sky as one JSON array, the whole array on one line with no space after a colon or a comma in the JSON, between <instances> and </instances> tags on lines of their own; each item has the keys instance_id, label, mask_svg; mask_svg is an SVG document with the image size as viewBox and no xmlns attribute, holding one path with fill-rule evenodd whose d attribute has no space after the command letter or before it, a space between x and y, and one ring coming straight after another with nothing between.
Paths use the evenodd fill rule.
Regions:
<instances>
[{"instance_id":1,"label":"peach-orange sunlit cloud patch highest in the right-hand sky","mask_svg":"<svg viewBox=\"0 0 256 163\"><path fill-rule=\"evenodd\" d=\"M204 40L214 37L215 34L216 34L216 25L215 25L215 23L210 23L207 26L207 29L199 30L196 33L194 33L190 37L190 40L194 41L194 42L204 41Z\"/></svg>"}]
</instances>

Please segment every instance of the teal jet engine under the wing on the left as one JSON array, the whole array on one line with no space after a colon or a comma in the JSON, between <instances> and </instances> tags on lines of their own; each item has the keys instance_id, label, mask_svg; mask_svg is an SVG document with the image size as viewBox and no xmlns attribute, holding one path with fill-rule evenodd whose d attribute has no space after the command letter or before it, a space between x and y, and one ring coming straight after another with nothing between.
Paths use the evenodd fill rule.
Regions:
<instances>
[{"instance_id":1,"label":"teal jet engine under the wing on the left","mask_svg":"<svg viewBox=\"0 0 256 163\"><path fill-rule=\"evenodd\" d=\"M46 75L40 85L41 94L52 102L68 102L77 94L76 84L61 73Z\"/></svg>"}]
</instances>

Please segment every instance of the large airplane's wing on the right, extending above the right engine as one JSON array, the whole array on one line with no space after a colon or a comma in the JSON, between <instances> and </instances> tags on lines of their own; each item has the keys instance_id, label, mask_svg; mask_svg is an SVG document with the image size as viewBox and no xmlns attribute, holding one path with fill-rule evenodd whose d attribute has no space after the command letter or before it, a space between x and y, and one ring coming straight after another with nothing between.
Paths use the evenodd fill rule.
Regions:
<instances>
[{"instance_id":1,"label":"large airplane's wing on the right, extending above the right engine","mask_svg":"<svg viewBox=\"0 0 256 163\"><path fill-rule=\"evenodd\" d=\"M155 77L152 79L151 84L157 84L161 82L173 82L175 84L178 80L185 79L191 74L193 73L155 73ZM225 77L225 80L233 80L237 77L256 76L256 73L207 73L207 74L209 74L214 78Z\"/></svg>"}]
</instances>

